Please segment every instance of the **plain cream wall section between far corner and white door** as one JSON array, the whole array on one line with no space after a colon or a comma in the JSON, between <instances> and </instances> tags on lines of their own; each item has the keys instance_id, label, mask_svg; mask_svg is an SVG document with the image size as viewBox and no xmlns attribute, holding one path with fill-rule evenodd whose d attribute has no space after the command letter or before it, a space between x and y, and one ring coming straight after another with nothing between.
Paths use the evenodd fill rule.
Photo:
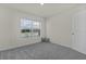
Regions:
<instances>
[{"instance_id":1,"label":"plain cream wall section between far corner and white door","mask_svg":"<svg viewBox=\"0 0 86 64\"><path fill-rule=\"evenodd\" d=\"M72 13L63 12L47 20L47 37L52 42L71 47L71 17Z\"/></svg>"}]
</instances>

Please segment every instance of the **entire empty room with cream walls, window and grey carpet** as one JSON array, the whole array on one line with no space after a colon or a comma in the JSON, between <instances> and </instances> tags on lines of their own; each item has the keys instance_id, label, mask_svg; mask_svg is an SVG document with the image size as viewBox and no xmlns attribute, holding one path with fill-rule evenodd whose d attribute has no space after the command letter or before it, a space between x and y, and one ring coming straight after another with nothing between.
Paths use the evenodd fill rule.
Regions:
<instances>
[{"instance_id":1,"label":"entire empty room with cream walls, window and grey carpet","mask_svg":"<svg viewBox=\"0 0 86 64\"><path fill-rule=\"evenodd\" d=\"M86 3L0 3L0 60L86 60Z\"/></svg>"}]
</instances>

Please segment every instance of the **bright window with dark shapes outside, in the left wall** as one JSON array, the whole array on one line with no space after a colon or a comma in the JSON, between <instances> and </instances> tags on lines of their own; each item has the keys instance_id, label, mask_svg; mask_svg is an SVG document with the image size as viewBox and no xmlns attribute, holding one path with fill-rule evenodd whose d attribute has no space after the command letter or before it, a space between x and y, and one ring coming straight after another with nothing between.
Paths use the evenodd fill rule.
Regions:
<instances>
[{"instance_id":1,"label":"bright window with dark shapes outside, in the left wall","mask_svg":"<svg viewBox=\"0 0 86 64\"><path fill-rule=\"evenodd\" d=\"M40 22L36 22L28 18L21 20L21 33L25 37L40 36Z\"/></svg>"}]
</instances>

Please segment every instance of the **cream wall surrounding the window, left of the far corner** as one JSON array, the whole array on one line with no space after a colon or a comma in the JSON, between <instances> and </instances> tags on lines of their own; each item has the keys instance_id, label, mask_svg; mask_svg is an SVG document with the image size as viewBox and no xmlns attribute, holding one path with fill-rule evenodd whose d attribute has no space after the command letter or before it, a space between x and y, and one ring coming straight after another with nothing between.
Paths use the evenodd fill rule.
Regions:
<instances>
[{"instance_id":1,"label":"cream wall surrounding the window, left of the far corner","mask_svg":"<svg viewBox=\"0 0 86 64\"><path fill-rule=\"evenodd\" d=\"M40 41L40 37L22 38L20 22L22 17L28 17L41 22L41 37L45 36L45 20L19 10L0 8L0 50L16 48Z\"/></svg>"}]
</instances>

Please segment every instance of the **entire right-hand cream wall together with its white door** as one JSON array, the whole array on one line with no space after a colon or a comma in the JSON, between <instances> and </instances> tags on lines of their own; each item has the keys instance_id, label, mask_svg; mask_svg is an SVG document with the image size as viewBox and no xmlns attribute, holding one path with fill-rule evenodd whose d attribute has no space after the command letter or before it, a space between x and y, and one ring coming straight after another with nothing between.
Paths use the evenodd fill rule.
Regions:
<instances>
[{"instance_id":1,"label":"entire right-hand cream wall together with its white door","mask_svg":"<svg viewBox=\"0 0 86 64\"><path fill-rule=\"evenodd\" d=\"M74 35L72 35L74 33ZM53 43L73 48L86 54L86 9L81 5L47 20L47 37Z\"/></svg>"}]
</instances>

